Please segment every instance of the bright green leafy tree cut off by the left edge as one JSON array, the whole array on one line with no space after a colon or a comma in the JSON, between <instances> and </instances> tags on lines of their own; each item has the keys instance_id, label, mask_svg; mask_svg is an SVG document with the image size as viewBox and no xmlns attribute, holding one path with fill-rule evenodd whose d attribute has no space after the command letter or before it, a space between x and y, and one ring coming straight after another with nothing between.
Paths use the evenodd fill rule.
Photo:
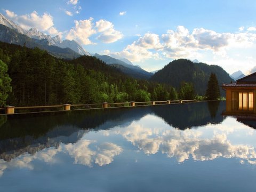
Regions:
<instances>
[{"instance_id":1,"label":"bright green leafy tree cut off by the left edge","mask_svg":"<svg viewBox=\"0 0 256 192\"><path fill-rule=\"evenodd\" d=\"M0 60L0 106L5 105L8 93L12 91L11 78L7 74L7 65Z\"/></svg>"}]
</instances>

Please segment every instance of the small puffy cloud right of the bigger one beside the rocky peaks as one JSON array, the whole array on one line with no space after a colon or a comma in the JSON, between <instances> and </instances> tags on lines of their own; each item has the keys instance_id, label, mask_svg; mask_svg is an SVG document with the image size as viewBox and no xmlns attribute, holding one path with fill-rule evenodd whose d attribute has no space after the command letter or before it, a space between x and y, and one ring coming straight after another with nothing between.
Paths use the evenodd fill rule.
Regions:
<instances>
[{"instance_id":1,"label":"small puffy cloud right of the bigger one beside the rocky peaks","mask_svg":"<svg viewBox=\"0 0 256 192\"><path fill-rule=\"evenodd\" d=\"M103 19L96 22L95 28L101 33L97 39L103 43L113 43L123 37L120 31L114 29L113 23Z\"/></svg>"}]
</instances>

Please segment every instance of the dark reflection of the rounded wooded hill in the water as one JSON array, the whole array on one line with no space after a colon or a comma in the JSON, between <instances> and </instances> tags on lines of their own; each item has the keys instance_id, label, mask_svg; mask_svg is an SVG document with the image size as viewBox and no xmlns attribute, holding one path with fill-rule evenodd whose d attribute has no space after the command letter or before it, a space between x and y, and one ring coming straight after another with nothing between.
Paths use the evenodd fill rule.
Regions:
<instances>
[{"instance_id":1,"label":"dark reflection of the rounded wooded hill in the water","mask_svg":"<svg viewBox=\"0 0 256 192\"><path fill-rule=\"evenodd\" d=\"M162 117L165 122L184 130L193 126L218 124L223 121L222 111L226 109L225 102L187 103L172 105L164 110L161 106L151 108L154 113Z\"/></svg>"}]
</instances>

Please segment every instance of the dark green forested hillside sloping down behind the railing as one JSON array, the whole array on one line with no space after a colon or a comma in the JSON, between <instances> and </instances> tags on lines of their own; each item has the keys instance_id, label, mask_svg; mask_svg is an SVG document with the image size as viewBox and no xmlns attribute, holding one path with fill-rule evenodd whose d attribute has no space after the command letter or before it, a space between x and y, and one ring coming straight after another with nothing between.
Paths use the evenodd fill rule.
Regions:
<instances>
[{"instance_id":1,"label":"dark green forested hillside sloping down behind the railing","mask_svg":"<svg viewBox=\"0 0 256 192\"><path fill-rule=\"evenodd\" d=\"M0 60L12 79L7 105L177 99L173 87L136 80L91 56L63 60L38 48L0 42Z\"/></svg>"}]
</instances>

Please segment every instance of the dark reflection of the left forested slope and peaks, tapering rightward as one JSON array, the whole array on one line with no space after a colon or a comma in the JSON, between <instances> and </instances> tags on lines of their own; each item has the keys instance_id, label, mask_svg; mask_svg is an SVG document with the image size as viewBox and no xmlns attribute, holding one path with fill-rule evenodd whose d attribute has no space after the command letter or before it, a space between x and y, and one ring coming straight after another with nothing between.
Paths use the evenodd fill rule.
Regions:
<instances>
[{"instance_id":1,"label":"dark reflection of the left forested slope and peaks, tapering rightward","mask_svg":"<svg viewBox=\"0 0 256 192\"><path fill-rule=\"evenodd\" d=\"M149 108L136 107L3 116L7 121L0 126L0 159L11 161L26 152L58 147L60 142L75 143L89 129L129 124L148 113Z\"/></svg>"}]
</instances>

